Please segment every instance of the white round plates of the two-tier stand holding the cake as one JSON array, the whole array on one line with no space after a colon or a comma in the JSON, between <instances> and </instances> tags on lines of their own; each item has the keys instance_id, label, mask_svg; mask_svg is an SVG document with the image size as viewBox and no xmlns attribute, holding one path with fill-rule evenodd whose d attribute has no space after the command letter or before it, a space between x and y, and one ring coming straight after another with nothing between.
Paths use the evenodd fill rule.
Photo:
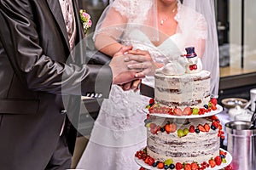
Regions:
<instances>
[{"instance_id":1,"label":"white round plates of the two-tier stand holding the cake","mask_svg":"<svg viewBox=\"0 0 256 170\"><path fill-rule=\"evenodd\" d=\"M223 111L223 107L221 105L216 105L216 106L217 106L217 110L207 112L203 115L175 116L175 115L168 115L168 114L160 114L160 113L152 114L151 113L150 116L159 116L159 117L164 117L164 118L176 118L176 119L181 119L181 120L186 120L186 119L191 119L191 118L201 118L201 117L213 116L213 115L216 115L216 114L220 113L221 111ZM148 113L148 111L146 111L146 110L143 110L143 111ZM225 157L226 162L221 163L221 165L216 166L216 167L207 167L205 170L218 170L218 169L222 169L222 168L230 165L230 163L232 161L232 156L230 155L230 153L227 150L224 150L222 148L220 148L219 150L223 150L224 152L227 153L227 155ZM159 170L158 167L149 166L142 159L138 159L136 156L135 156L135 161L137 162L137 164L139 166L144 167L148 170Z\"/></svg>"}]
</instances>

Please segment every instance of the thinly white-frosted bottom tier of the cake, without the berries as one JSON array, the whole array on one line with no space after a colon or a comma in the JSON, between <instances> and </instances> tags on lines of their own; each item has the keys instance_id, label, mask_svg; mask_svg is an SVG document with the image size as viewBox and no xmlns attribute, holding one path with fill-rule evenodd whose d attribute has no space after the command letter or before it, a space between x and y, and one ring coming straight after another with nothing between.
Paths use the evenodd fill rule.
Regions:
<instances>
[{"instance_id":1,"label":"thinly white-frosted bottom tier of the cake, without the berries","mask_svg":"<svg viewBox=\"0 0 256 170\"><path fill-rule=\"evenodd\" d=\"M166 121L163 121L160 126L164 126ZM157 122L160 122L159 118ZM172 122L172 121L171 121ZM190 119L187 125L178 125L178 128L189 128L194 125L212 122L207 119ZM147 152L149 156L154 157L158 161L172 159L174 162L203 162L208 161L212 157L218 156L219 138L218 130L210 130L208 133L189 133L182 138L175 133L157 133L152 134L148 128Z\"/></svg>"}]
</instances>

